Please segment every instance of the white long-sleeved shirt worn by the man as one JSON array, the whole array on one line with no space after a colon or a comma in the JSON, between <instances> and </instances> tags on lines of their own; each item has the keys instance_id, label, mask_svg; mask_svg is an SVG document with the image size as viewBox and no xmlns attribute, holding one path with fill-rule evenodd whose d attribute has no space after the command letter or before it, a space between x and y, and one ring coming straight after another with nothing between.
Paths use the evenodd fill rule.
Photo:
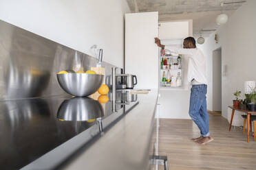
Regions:
<instances>
[{"instance_id":1,"label":"white long-sleeved shirt worn by the man","mask_svg":"<svg viewBox=\"0 0 256 170\"><path fill-rule=\"evenodd\" d=\"M166 45L164 49L167 49L176 54L181 53L184 57L189 57L187 73L189 82L194 79L197 84L207 84L206 57L203 55L200 49L183 49L171 45Z\"/></svg>"}]
</instances>

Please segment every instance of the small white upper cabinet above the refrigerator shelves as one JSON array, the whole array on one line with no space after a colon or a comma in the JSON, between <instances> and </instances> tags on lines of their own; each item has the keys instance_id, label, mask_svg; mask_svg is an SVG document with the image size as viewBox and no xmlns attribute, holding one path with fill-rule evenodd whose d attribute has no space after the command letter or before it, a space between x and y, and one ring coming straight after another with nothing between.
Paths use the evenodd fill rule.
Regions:
<instances>
[{"instance_id":1,"label":"small white upper cabinet above the refrigerator shelves","mask_svg":"<svg viewBox=\"0 0 256 170\"><path fill-rule=\"evenodd\" d=\"M173 21L159 24L159 38L162 39L178 39L193 36L192 20Z\"/></svg>"}]
</instances>

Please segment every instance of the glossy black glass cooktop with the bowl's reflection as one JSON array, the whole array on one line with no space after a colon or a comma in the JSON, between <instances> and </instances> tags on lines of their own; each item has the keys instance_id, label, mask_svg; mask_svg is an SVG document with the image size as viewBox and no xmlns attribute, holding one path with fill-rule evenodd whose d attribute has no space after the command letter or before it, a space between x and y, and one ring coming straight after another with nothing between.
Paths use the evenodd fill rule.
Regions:
<instances>
[{"instance_id":1,"label":"glossy black glass cooktop with the bowl's reflection","mask_svg":"<svg viewBox=\"0 0 256 170\"><path fill-rule=\"evenodd\" d=\"M117 96L116 102L126 102L127 94ZM117 119L111 93L109 98L106 104L70 95L0 102L0 169L21 169L82 132L88 138L100 134L111 117ZM116 110L125 113L122 105Z\"/></svg>"}]
</instances>

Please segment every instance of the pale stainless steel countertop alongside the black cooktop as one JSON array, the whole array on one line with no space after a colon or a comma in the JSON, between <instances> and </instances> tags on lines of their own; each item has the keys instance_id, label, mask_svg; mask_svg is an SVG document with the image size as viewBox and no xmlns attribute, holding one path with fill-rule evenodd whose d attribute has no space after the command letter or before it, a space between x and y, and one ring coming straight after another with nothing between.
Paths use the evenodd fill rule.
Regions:
<instances>
[{"instance_id":1,"label":"pale stainless steel countertop alongside the black cooktop","mask_svg":"<svg viewBox=\"0 0 256 170\"><path fill-rule=\"evenodd\" d=\"M61 169L148 169L158 90L138 95L139 104Z\"/></svg>"}]
</instances>

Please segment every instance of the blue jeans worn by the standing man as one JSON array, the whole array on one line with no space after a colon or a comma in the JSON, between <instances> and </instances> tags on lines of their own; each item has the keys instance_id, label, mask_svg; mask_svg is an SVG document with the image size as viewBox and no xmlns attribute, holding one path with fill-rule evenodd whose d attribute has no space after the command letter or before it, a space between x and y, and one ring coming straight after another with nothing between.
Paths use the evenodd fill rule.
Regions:
<instances>
[{"instance_id":1,"label":"blue jeans worn by the standing man","mask_svg":"<svg viewBox=\"0 0 256 170\"><path fill-rule=\"evenodd\" d=\"M194 84L191 88L189 115L200 129L201 136L210 136L209 117L206 108L206 84Z\"/></svg>"}]
</instances>

